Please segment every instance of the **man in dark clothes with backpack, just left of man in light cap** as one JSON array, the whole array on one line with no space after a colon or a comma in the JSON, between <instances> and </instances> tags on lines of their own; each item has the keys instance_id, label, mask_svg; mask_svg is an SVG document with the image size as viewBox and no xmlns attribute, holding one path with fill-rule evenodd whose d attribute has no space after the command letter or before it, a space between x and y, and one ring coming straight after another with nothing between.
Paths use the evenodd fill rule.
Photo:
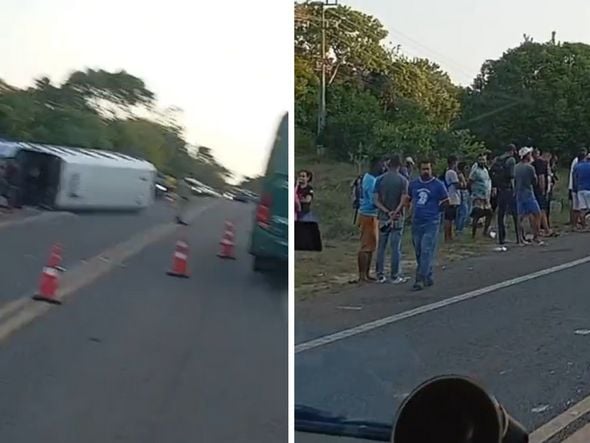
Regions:
<instances>
[{"instance_id":1,"label":"man in dark clothes with backpack, just left of man in light cap","mask_svg":"<svg viewBox=\"0 0 590 443\"><path fill-rule=\"evenodd\" d=\"M498 157L490 170L493 186L496 188L498 204L498 243L506 243L506 214L512 214L516 231L516 241L520 242L518 235L518 214L516 211L516 199L514 196L514 168L516 166L516 146L510 144L504 154Z\"/></svg>"}]
</instances>

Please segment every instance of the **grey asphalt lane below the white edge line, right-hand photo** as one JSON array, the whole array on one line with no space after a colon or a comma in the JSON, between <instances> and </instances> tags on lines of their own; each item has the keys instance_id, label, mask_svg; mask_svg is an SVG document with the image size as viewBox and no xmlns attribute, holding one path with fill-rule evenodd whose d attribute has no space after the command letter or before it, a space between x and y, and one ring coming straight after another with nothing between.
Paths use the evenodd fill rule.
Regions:
<instances>
[{"instance_id":1,"label":"grey asphalt lane below the white edge line, right-hand photo","mask_svg":"<svg viewBox=\"0 0 590 443\"><path fill-rule=\"evenodd\" d=\"M455 373L532 431L590 395L589 273L580 265L300 352L296 403L391 422L419 383Z\"/></svg>"}]
</instances>

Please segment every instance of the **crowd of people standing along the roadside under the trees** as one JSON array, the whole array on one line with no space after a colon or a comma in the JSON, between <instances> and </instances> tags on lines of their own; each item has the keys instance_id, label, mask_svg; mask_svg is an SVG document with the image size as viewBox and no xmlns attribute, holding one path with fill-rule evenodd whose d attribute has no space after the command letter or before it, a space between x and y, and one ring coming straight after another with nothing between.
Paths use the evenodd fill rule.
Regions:
<instances>
[{"instance_id":1,"label":"crowd of people standing along the roadside under the trees","mask_svg":"<svg viewBox=\"0 0 590 443\"><path fill-rule=\"evenodd\" d=\"M380 283L405 283L402 263L402 236L406 219L411 219L411 237L416 256L414 290L434 284L433 263L439 233L452 242L471 221L471 236L481 227L485 237L507 243L506 218L512 218L514 243L544 244L557 233L551 226L551 202L559 181L557 156L532 147L508 145L491 158L481 155L470 165L456 156L447 159L443 174L436 176L434 164L416 164L399 155L374 159L370 169L353 183L356 223L360 229L358 279ZM580 149L569 177L570 223L586 229L590 210L590 156ZM494 217L495 215L495 217ZM497 222L497 232L491 229ZM385 275L385 256L391 250L390 274ZM373 256L375 273L371 275Z\"/></svg>"}]
</instances>

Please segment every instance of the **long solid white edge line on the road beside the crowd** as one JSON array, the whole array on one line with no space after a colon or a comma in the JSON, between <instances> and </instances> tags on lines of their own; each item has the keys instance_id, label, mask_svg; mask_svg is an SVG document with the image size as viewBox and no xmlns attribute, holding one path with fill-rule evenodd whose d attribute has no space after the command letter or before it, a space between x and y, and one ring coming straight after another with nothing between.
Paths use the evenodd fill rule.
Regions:
<instances>
[{"instance_id":1,"label":"long solid white edge line on the road beside the crowd","mask_svg":"<svg viewBox=\"0 0 590 443\"><path fill-rule=\"evenodd\" d=\"M525 283L539 277L544 277L546 275L554 274L556 272L564 271L566 269L574 268L576 266L583 265L585 263L590 262L590 256L580 258L578 260L574 260L568 263L563 263L561 265L553 266L551 268L541 269L540 271L533 272L531 274L522 275L520 277L515 277L510 280L506 280L500 283L496 283L490 286L486 286L484 288L475 289L473 291L466 292L465 294L456 295L454 297L446 298L444 300L440 300L435 303L431 303L428 305L419 306L414 309L410 309L409 311L400 312L398 314L390 315L389 317L380 318L368 323L364 323L359 326L355 326L349 329L343 329L341 331L335 332L333 334L328 334L323 337L319 337L313 340L309 340L300 344L295 345L295 354L299 354L301 352L310 351L312 349L316 349L322 346L329 345L331 343L335 343L350 337L354 337L359 334L364 334L365 332L369 332L378 328L382 328L387 325L391 325L393 323L400 322L407 318L416 317L421 314L425 314L427 312L436 311L438 309L454 305L466 300L470 300L472 298L479 297L481 295L489 294L490 292L498 291L499 289L508 288L510 286L515 286L521 283Z\"/></svg>"}]
</instances>

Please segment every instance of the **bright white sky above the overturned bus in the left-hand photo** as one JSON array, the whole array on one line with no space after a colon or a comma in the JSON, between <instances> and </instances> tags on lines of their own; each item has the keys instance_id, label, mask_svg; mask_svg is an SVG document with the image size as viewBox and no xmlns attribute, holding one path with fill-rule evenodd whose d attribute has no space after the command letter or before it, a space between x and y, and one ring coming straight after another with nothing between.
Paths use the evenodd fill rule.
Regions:
<instances>
[{"instance_id":1,"label":"bright white sky above the overturned bus in the left-hand photo","mask_svg":"<svg viewBox=\"0 0 590 443\"><path fill-rule=\"evenodd\" d=\"M238 174L263 172L292 108L289 0L2 0L0 30L9 84L125 69L182 108L188 141Z\"/></svg>"}]
</instances>

